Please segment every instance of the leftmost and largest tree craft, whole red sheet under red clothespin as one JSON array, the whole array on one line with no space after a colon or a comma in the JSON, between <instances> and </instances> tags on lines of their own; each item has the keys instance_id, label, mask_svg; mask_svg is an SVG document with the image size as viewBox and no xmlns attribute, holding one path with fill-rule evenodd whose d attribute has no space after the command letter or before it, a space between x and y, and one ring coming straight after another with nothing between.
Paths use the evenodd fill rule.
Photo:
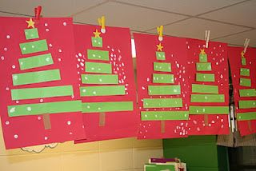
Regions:
<instances>
[{"instance_id":1,"label":"leftmost and largest tree craft, whole red sheet under red clothespin","mask_svg":"<svg viewBox=\"0 0 256 171\"><path fill-rule=\"evenodd\" d=\"M85 137L71 18L0 18L6 149ZM63 36L65 35L65 36Z\"/></svg>"}]
</instances>

